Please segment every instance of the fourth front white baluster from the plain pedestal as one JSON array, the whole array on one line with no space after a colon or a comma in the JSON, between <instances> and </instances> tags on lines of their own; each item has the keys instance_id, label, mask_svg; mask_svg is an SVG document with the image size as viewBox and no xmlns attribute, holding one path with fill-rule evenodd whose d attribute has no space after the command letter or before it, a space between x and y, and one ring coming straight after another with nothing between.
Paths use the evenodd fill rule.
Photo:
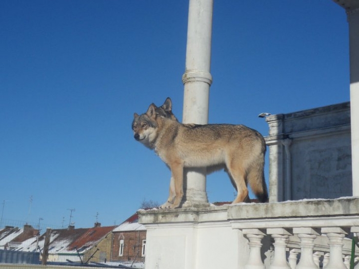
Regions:
<instances>
[{"instance_id":1,"label":"fourth front white baluster from the plain pedestal","mask_svg":"<svg viewBox=\"0 0 359 269\"><path fill-rule=\"evenodd\" d=\"M341 227L323 227L322 234L329 239L329 262L325 269L347 269L343 262L343 238L347 234Z\"/></svg>"}]
</instances>

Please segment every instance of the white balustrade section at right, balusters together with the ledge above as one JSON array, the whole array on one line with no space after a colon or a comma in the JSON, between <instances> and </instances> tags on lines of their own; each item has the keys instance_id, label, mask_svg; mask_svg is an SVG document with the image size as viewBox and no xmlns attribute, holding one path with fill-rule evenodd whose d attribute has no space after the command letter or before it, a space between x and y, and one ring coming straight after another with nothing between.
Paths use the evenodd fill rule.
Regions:
<instances>
[{"instance_id":1,"label":"white balustrade section at right, balusters together with the ledge above","mask_svg":"<svg viewBox=\"0 0 359 269\"><path fill-rule=\"evenodd\" d=\"M244 268L349 269L350 238L359 236L359 218L350 214L355 206L352 201L258 204L252 206L252 214L246 210L235 212L232 216L238 219L231 221L232 227L242 231L249 245L249 258ZM263 217L257 217L258 211ZM246 217L240 218L242 215ZM273 245L267 266L261 257L266 251L262 250L261 242L265 239ZM359 259L358 251L355 258Z\"/></svg>"}]
</instances>

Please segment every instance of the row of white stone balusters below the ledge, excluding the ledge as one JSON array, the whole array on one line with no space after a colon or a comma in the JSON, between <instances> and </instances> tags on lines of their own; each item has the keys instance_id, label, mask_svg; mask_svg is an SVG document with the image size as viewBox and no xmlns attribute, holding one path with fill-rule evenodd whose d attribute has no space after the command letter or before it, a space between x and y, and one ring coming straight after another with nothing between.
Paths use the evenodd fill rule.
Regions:
<instances>
[{"instance_id":1,"label":"row of white stone balusters below the ledge, excluding the ledge","mask_svg":"<svg viewBox=\"0 0 359 269\"><path fill-rule=\"evenodd\" d=\"M359 227L351 227L351 232ZM292 229L268 228L243 229L248 239L249 258L245 269L265 269L261 258L262 239L271 236L274 246L270 269L349 269L350 249L343 251L344 238L348 233L342 227L322 227L320 230L311 227L293 227ZM289 237L297 236L297 248L288 247ZM326 252L314 251L314 240L318 236L325 235L328 238L328 250ZM349 245L350 240L346 245ZM293 241L292 241L293 244ZM323 246L322 246L323 248ZM358 254L355 256L358 260Z\"/></svg>"}]
</instances>

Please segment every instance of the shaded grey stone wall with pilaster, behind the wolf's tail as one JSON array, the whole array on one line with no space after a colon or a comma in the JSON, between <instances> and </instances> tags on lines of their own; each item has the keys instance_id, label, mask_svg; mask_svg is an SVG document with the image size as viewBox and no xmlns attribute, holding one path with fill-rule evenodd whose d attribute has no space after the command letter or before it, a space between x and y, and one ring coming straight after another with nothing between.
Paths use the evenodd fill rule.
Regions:
<instances>
[{"instance_id":1,"label":"shaded grey stone wall with pilaster, behind the wolf's tail","mask_svg":"<svg viewBox=\"0 0 359 269\"><path fill-rule=\"evenodd\" d=\"M266 121L270 202L352 195L349 102Z\"/></svg>"}]
</instances>

